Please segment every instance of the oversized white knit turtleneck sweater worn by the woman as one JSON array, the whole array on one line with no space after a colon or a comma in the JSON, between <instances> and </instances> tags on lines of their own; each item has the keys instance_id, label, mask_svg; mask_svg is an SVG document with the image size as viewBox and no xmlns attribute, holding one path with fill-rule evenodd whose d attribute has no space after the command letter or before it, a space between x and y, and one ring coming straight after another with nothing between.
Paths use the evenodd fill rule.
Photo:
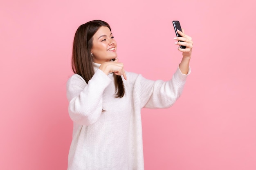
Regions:
<instances>
[{"instance_id":1,"label":"oversized white knit turtleneck sweater worn by the woman","mask_svg":"<svg viewBox=\"0 0 256 170\"><path fill-rule=\"evenodd\" d=\"M141 108L172 106L187 75L178 68L164 82L126 72L125 95L116 98L114 74L107 76L99 66L94 63L88 84L78 74L67 81L68 112L74 121L67 169L144 170Z\"/></svg>"}]
</instances>

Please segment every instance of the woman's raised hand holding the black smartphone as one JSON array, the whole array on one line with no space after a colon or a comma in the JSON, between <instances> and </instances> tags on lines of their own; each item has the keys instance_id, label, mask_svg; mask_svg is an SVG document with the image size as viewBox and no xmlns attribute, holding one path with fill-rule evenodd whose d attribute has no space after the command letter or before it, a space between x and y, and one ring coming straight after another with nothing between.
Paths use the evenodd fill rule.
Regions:
<instances>
[{"instance_id":1,"label":"woman's raised hand holding the black smartphone","mask_svg":"<svg viewBox=\"0 0 256 170\"><path fill-rule=\"evenodd\" d=\"M179 45L177 49L182 52L183 57L191 57L192 48L193 48L193 41L192 38L189 35L186 35L184 32L184 29L182 31L177 30L177 33L179 33L182 37L175 37L174 39L178 42L175 42L175 44ZM181 42L183 41L183 42ZM181 49L180 45L186 46L186 49Z\"/></svg>"}]
</instances>

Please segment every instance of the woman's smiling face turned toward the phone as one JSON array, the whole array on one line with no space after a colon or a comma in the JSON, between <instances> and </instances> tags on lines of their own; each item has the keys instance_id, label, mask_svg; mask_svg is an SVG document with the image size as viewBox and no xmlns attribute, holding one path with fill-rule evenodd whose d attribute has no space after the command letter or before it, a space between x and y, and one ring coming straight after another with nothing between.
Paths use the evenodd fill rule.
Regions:
<instances>
[{"instance_id":1,"label":"woman's smiling face turned toward the phone","mask_svg":"<svg viewBox=\"0 0 256 170\"><path fill-rule=\"evenodd\" d=\"M101 26L92 38L93 62L102 64L117 57L117 42L107 26Z\"/></svg>"}]
</instances>

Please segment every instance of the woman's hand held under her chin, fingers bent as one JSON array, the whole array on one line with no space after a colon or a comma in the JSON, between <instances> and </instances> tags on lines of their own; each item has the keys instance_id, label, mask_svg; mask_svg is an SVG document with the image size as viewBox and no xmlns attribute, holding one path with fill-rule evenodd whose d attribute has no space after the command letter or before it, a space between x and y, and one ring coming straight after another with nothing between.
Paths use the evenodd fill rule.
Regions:
<instances>
[{"instance_id":1,"label":"woman's hand held under her chin, fingers bent","mask_svg":"<svg viewBox=\"0 0 256 170\"><path fill-rule=\"evenodd\" d=\"M115 61L113 62L104 62L99 66L99 69L101 69L106 75L108 73L114 73L115 75L123 75L124 79L127 80L126 73L124 71L124 64L121 62L118 62L118 58L115 58Z\"/></svg>"}]
</instances>

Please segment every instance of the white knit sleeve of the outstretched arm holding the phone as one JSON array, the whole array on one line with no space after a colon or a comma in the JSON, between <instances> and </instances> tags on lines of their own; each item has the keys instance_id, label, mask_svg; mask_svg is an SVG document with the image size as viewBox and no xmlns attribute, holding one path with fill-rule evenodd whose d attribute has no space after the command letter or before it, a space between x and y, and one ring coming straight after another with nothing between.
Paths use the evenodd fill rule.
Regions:
<instances>
[{"instance_id":1,"label":"white knit sleeve of the outstretched arm holding the phone","mask_svg":"<svg viewBox=\"0 0 256 170\"><path fill-rule=\"evenodd\" d=\"M141 108L168 108L180 97L187 75L182 74L180 68L173 74L171 80L148 80L139 75L135 80L134 97Z\"/></svg>"}]
</instances>

